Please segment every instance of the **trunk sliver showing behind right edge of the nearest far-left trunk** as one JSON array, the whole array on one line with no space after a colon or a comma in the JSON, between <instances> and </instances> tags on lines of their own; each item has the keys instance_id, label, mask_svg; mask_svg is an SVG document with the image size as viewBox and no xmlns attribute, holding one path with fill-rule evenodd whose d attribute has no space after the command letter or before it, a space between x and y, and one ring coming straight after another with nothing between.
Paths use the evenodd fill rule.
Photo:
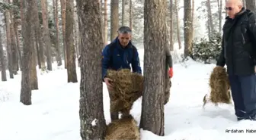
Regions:
<instances>
[{"instance_id":1,"label":"trunk sliver showing behind right edge of the nearest far-left trunk","mask_svg":"<svg viewBox=\"0 0 256 140\"><path fill-rule=\"evenodd\" d=\"M31 56L31 72L30 72L30 86L31 90L38 89L38 81L37 81L37 55L36 55L36 49L37 47L37 40L34 39L34 48L31 50L32 51L32 56Z\"/></svg>"}]
</instances>

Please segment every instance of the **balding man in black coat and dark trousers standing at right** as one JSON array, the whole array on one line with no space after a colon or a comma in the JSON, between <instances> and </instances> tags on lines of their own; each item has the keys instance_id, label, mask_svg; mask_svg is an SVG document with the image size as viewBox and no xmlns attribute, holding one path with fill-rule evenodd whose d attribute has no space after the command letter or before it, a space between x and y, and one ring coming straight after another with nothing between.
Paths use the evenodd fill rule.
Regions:
<instances>
[{"instance_id":1,"label":"balding man in black coat and dark trousers standing at right","mask_svg":"<svg viewBox=\"0 0 256 140\"><path fill-rule=\"evenodd\" d=\"M256 120L256 14L241 0L226 2L222 51L217 66L227 66L235 115L238 120Z\"/></svg>"}]
</instances>

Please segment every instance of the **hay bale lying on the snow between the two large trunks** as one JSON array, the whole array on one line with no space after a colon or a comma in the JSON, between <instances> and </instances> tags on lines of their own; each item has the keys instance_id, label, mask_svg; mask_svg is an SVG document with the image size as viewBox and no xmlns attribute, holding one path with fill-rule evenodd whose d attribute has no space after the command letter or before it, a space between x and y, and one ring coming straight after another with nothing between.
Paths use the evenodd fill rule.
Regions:
<instances>
[{"instance_id":1,"label":"hay bale lying on the snow between the two large trunks","mask_svg":"<svg viewBox=\"0 0 256 140\"><path fill-rule=\"evenodd\" d=\"M105 140L139 140L139 127L136 120L129 115L114 120L107 125Z\"/></svg>"}]
</instances>

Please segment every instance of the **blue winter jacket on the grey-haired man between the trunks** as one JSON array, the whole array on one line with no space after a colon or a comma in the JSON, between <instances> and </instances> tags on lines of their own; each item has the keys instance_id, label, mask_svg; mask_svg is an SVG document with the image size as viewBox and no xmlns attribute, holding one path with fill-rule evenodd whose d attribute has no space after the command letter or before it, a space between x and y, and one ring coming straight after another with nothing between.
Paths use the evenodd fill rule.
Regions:
<instances>
[{"instance_id":1,"label":"blue winter jacket on the grey-haired man between the trunks","mask_svg":"<svg viewBox=\"0 0 256 140\"><path fill-rule=\"evenodd\" d=\"M139 54L132 42L129 42L126 48L121 47L118 39L114 39L112 43L114 43L112 44L113 49L110 48L110 43L102 51L102 79L107 76L107 69L131 69L130 64L132 65L133 73L141 74Z\"/></svg>"}]
</instances>

